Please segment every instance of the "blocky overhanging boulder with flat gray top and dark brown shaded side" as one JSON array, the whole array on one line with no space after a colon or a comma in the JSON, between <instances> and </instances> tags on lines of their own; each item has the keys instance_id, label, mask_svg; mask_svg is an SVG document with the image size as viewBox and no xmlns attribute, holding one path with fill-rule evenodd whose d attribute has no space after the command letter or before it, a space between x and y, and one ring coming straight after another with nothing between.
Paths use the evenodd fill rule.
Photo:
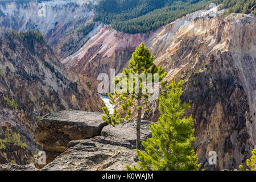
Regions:
<instances>
[{"instance_id":1,"label":"blocky overhanging boulder with flat gray top and dark brown shaded side","mask_svg":"<svg viewBox=\"0 0 256 182\"><path fill-rule=\"evenodd\" d=\"M107 125L101 115L89 111L64 110L40 119L34 135L36 143L42 145L47 152L47 162L64 152L71 140L100 135L103 127Z\"/></svg>"}]
</instances>

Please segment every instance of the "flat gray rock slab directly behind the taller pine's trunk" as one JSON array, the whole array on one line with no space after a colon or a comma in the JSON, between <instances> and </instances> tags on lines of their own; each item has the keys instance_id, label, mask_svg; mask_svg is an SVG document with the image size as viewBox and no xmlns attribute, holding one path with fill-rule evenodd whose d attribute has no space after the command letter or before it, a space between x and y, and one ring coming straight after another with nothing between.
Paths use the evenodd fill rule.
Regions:
<instances>
[{"instance_id":1,"label":"flat gray rock slab directly behind the taller pine's trunk","mask_svg":"<svg viewBox=\"0 0 256 182\"><path fill-rule=\"evenodd\" d=\"M141 123L141 140L151 137L149 130L150 121ZM105 126L101 131L101 136L92 138L94 142L123 146L130 149L136 148L136 125L134 122L121 123L115 127Z\"/></svg>"}]
</instances>

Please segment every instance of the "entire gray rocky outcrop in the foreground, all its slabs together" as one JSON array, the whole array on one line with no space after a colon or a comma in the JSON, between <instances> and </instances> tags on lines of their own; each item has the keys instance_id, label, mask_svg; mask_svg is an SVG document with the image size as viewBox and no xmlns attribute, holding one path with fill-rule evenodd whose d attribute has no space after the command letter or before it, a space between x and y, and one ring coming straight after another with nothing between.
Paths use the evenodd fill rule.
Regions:
<instances>
[{"instance_id":1,"label":"entire gray rocky outcrop in the foreground, all its slabs together","mask_svg":"<svg viewBox=\"0 0 256 182\"><path fill-rule=\"evenodd\" d=\"M35 140L46 151L47 163L54 159L42 170L125 170L136 164L136 125L106 126L102 115L65 110L41 119ZM142 121L142 140L151 135L149 124Z\"/></svg>"}]
</instances>

